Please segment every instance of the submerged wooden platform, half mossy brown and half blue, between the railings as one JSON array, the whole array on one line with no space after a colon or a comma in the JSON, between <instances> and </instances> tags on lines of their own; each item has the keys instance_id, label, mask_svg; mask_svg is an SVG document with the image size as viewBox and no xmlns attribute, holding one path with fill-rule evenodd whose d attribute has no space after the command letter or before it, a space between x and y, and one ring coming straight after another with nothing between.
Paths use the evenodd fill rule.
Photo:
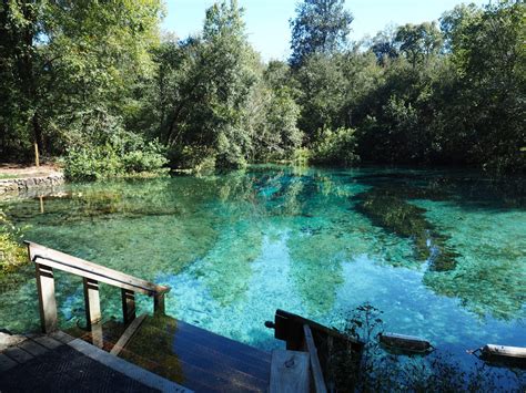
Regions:
<instances>
[{"instance_id":1,"label":"submerged wooden platform, half mossy brown and half blue, between the railings","mask_svg":"<svg viewBox=\"0 0 526 393\"><path fill-rule=\"evenodd\" d=\"M119 355L196 392L269 389L269 352L166 316L146 317Z\"/></svg>"}]
</instances>

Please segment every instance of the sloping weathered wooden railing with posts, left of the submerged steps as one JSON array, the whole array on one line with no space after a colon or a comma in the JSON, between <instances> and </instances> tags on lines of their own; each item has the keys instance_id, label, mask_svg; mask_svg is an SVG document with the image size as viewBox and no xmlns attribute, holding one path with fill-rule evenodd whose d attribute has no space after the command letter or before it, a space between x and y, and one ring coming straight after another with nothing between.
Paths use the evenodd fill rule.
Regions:
<instances>
[{"instance_id":1,"label":"sloping weathered wooden railing with posts, left of the submerged steps","mask_svg":"<svg viewBox=\"0 0 526 393\"><path fill-rule=\"evenodd\" d=\"M170 287L158 286L31 241L26 244L29 258L36 266L40 322L44 333L58 329L53 269L83 278L87 324L91 329L93 340L100 340L99 344L102 342L99 282L121 289L124 323L135 319L135 293L152 297L154 312L164 313L164 294L170 291Z\"/></svg>"}]
</instances>

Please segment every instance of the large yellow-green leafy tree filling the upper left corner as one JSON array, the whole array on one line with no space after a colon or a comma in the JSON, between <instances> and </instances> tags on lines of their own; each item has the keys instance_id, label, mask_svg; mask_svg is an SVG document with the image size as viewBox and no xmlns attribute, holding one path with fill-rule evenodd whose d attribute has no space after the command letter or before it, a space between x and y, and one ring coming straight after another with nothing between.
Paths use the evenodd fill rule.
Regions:
<instances>
[{"instance_id":1,"label":"large yellow-green leafy tree filling the upper left corner","mask_svg":"<svg viewBox=\"0 0 526 393\"><path fill-rule=\"evenodd\" d=\"M1 7L0 90L8 96L0 128L19 136L6 138L2 152L29 156L32 135L40 151L60 154L101 110L117 117L134 111L130 92L151 72L160 0L19 0ZM12 139L21 141L19 151Z\"/></svg>"}]
</instances>

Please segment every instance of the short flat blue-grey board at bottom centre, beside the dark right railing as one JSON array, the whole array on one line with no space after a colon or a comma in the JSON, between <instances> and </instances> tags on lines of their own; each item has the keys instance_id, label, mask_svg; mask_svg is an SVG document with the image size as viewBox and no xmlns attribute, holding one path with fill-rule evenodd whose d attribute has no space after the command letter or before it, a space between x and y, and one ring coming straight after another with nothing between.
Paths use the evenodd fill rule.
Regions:
<instances>
[{"instance_id":1,"label":"short flat blue-grey board at bottom centre, beside the dark right railing","mask_svg":"<svg viewBox=\"0 0 526 393\"><path fill-rule=\"evenodd\" d=\"M271 393L308 392L308 353L286 350L272 351Z\"/></svg>"}]
</instances>

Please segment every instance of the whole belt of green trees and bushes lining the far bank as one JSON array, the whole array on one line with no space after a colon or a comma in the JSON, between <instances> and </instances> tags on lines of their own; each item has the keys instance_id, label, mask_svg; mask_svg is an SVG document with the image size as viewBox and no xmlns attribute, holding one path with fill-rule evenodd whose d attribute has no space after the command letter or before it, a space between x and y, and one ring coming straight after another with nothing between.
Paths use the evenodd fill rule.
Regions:
<instances>
[{"instance_id":1,"label":"whole belt of green trees and bushes lining the far bank","mask_svg":"<svg viewBox=\"0 0 526 393\"><path fill-rule=\"evenodd\" d=\"M393 27L350 45L344 1L304 0L290 64L264 64L235 0L213 3L201 33L162 41L160 0L4 1L0 155L27 162L34 144L44 158L68 154L71 178L155 172L160 145L178 168L310 148L331 165L360 156L523 173L525 8L458 6L439 28Z\"/></svg>"}]
</instances>

